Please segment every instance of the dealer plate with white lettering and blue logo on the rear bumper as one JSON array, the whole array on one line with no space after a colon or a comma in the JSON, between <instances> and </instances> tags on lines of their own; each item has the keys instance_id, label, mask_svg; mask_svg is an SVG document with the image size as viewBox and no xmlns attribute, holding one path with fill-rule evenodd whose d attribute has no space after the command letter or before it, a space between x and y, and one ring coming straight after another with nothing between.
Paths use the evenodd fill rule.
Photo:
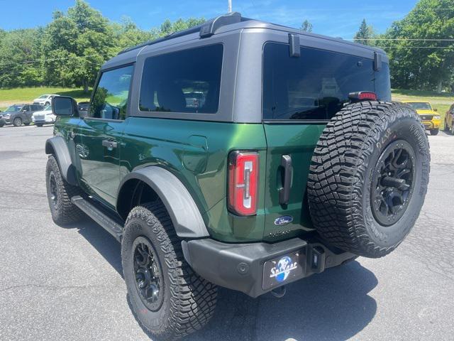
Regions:
<instances>
[{"instance_id":1,"label":"dealer plate with white lettering and blue logo on the rear bumper","mask_svg":"<svg viewBox=\"0 0 454 341\"><path fill-rule=\"evenodd\" d=\"M303 249L265 261L262 288L267 290L282 286L294 278L301 278L305 269L306 255Z\"/></svg>"}]
</instances>

